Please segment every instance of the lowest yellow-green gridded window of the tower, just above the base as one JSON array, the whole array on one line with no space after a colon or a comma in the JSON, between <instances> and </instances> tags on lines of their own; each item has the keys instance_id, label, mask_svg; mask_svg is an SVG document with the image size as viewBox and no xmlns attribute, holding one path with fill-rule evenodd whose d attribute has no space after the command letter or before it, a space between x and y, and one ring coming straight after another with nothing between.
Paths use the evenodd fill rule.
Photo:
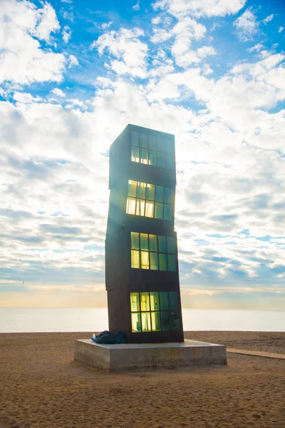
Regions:
<instances>
[{"instance_id":1,"label":"lowest yellow-green gridded window of the tower, just above the base","mask_svg":"<svg viewBox=\"0 0 285 428\"><path fill-rule=\"evenodd\" d=\"M175 291L131 292L132 332L179 330L178 295Z\"/></svg>"}]
</instances>

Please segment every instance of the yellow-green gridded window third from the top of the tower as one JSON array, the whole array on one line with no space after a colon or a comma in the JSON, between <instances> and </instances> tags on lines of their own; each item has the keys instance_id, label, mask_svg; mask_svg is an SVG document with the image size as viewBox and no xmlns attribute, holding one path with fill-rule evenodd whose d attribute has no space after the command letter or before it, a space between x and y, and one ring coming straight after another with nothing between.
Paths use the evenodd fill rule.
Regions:
<instances>
[{"instance_id":1,"label":"yellow-green gridded window third from the top of the tower","mask_svg":"<svg viewBox=\"0 0 285 428\"><path fill-rule=\"evenodd\" d=\"M131 267L176 271L175 238L172 236L131 232L130 246Z\"/></svg>"}]
</instances>

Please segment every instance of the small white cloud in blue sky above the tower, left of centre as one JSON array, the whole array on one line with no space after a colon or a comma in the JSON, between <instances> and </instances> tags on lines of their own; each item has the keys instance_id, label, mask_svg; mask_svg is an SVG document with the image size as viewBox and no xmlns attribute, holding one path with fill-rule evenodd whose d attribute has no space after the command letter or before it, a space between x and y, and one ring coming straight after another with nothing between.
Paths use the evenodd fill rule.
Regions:
<instances>
[{"instance_id":1,"label":"small white cloud in blue sky above the tower, left of centre","mask_svg":"<svg viewBox=\"0 0 285 428\"><path fill-rule=\"evenodd\" d=\"M115 56L111 68L116 73L144 78L148 47L138 39L143 35L143 31L138 28L110 31L94 41L91 48L97 48L100 55L106 50Z\"/></svg>"}]
</instances>

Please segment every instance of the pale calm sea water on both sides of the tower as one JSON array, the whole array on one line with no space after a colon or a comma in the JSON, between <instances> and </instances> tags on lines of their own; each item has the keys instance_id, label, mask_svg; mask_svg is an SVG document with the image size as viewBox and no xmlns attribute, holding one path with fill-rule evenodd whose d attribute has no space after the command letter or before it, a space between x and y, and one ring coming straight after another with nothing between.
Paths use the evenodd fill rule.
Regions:
<instances>
[{"instance_id":1,"label":"pale calm sea water on both sides of the tower","mask_svg":"<svg viewBox=\"0 0 285 428\"><path fill-rule=\"evenodd\" d=\"M183 329L284 332L285 311L183 309ZM101 332L105 307L0 307L0 332Z\"/></svg>"}]
</instances>

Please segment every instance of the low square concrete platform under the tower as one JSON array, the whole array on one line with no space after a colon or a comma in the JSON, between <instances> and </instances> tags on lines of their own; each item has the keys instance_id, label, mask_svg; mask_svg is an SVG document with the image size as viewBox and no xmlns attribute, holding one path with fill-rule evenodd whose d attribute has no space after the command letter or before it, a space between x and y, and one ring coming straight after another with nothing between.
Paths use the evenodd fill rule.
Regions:
<instances>
[{"instance_id":1,"label":"low square concrete platform under the tower","mask_svg":"<svg viewBox=\"0 0 285 428\"><path fill-rule=\"evenodd\" d=\"M98 345L90 339L76 340L74 360L108 371L144 367L179 367L227 364L224 345L185 340L182 343Z\"/></svg>"}]
</instances>

